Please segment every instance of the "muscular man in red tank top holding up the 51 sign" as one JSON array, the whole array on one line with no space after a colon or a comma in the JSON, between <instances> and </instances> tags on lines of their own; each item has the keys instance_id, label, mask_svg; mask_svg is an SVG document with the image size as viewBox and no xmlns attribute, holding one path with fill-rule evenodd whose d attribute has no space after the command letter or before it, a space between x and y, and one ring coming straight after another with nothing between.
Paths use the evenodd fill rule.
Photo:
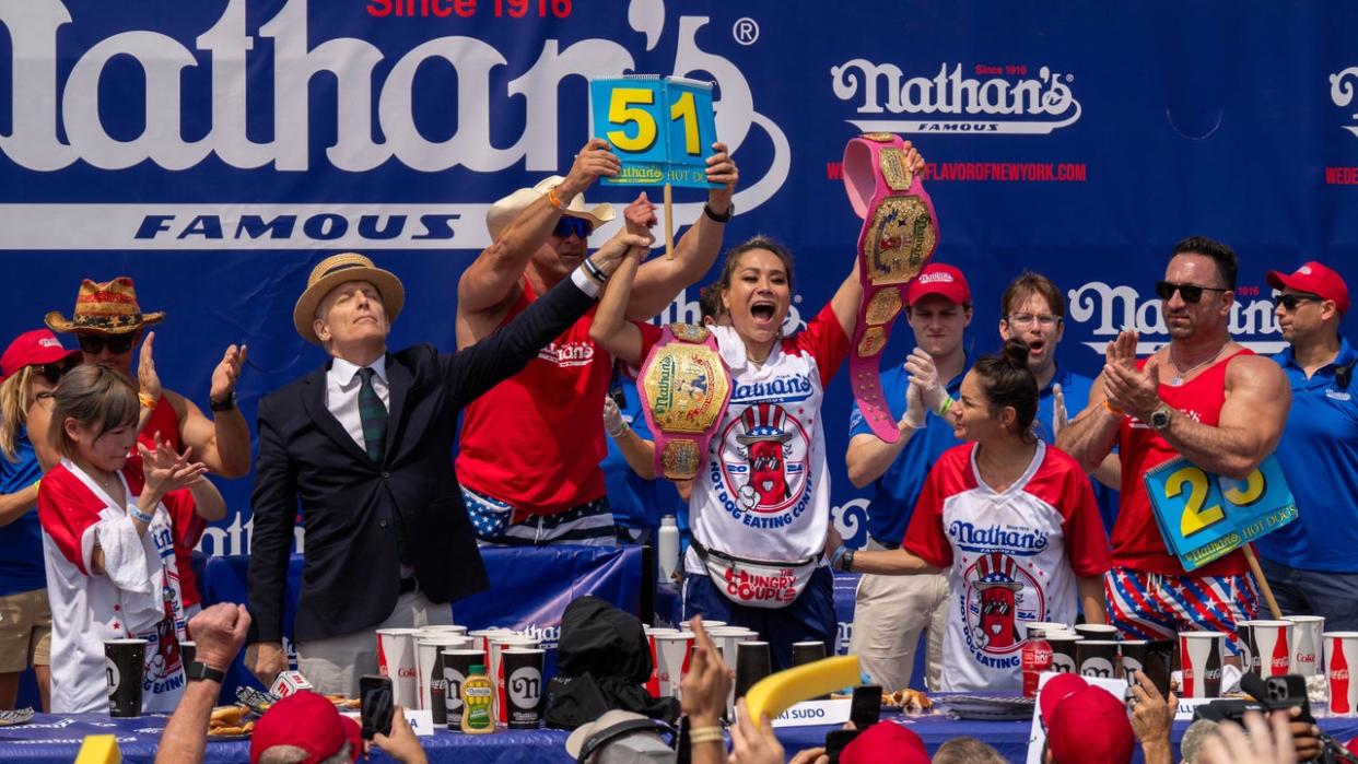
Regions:
<instances>
[{"instance_id":1,"label":"muscular man in red tank top holding up the 51 sign","mask_svg":"<svg viewBox=\"0 0 1358 764\"><path fill-rule=\"evenodd\" d=\"M641 266L629 318L649 319L698 281L721 250L733 212L736 166L724 144L708 159L703 214L679 239L674 259ZM581 195L621 163L608 144L585 144L565 178L551 176L497 201L486 213L494 240L458 282L458 345L490 335L581 262L587 239L614 218L610 205ZM656 221L645 194L625 210L629 228ZM467 407L458 474L482 540L611 544L604 476L603 399L612 358L589 338L592 312L543 349L527 368Z\"/></svg>"}]
</instances>

